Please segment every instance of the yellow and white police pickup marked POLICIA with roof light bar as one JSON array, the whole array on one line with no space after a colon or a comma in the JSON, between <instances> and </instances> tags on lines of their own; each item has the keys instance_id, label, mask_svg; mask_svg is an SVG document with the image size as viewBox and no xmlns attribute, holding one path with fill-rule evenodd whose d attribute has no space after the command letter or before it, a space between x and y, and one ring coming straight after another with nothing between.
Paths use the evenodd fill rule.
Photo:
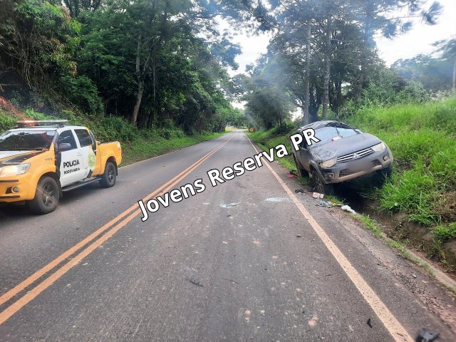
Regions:
<instances>
[{"instance_id":1,"label":"yellow and white police pickup marked POLICIA with roof light bar","mask_svg":"<svg viewBox=\"0 0 456 342\"><path fill-rule=\"evenodd\" d=\"M100 182L113 187L120 142L100 143L66 120L19 121L0 135L0 203L26 203L32 212L56 209L63 192Z\"/></svg>"}]
</instances>

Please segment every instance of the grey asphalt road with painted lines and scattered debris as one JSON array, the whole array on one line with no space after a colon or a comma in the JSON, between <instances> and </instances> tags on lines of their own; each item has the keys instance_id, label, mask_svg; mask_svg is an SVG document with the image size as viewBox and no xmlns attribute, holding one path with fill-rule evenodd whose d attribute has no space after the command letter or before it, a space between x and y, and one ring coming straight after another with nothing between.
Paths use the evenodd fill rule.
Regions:
<instances>
[{"instance_id":1,"label":"grey asphalt road with painted lines and scattered debris","mask_svg":"<svg viewBox=\"0 0 456 342\"><path fill-rule=\"evenodd\" d=\"M212 187L208 170L256 153L228 133L45 216L1 208L0 341L410 341L421 328L456 341L444 289L348 214L294 195L276 163ZM198 178L204 192L142 222L138 200Z\"/></svg>"}]
</instances>

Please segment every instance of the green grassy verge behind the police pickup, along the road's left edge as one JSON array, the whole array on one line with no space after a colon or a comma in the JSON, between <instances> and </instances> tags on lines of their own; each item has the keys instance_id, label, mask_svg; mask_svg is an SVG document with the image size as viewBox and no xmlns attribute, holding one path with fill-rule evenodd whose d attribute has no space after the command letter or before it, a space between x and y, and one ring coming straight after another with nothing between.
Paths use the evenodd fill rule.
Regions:
<instances>
[{"instance_id":1,"label":"green grassy verge behind the police pickup, along the road's left edge","mask_svg":"<svg viewBox=\"0 0 456 342\"><path fill-rule=\"evenodd\" d=\"M85 125L93 131L101 142L120 141L123 150L123 165L155 157L170 150L195 145L217 138L223 133L195 133L185 135L179 128L139 130L122 118L103 116L81 116L71 110L63 110L58 116L44 115L34 110L26 110L26 116L36 120L66 119L73 125ZM0 110L0 133L11 128L16 118Z\"/></svg>"}]
</instances>

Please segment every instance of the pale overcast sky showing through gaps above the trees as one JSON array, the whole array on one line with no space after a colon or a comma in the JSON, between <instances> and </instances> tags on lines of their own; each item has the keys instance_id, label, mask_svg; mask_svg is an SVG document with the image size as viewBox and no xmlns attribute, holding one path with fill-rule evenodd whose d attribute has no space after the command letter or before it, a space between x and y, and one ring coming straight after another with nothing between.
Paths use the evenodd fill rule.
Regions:
<instances>
[{"instance_id":1,"label":"pale overcast sky showing through gaps above the trees","mask_svg":"<svg viewBox=\"0 0 456 342\"><path fill-rule=\"evenodd\" d=\"M399 58L410 58L419 53L432 53L434 47L431 45L435 41L456 36L456 1L455 0L438 0L443 6L443 12L437 19L434 26L426 25L415 21L412 31L398 36L394 39L377 38L377 46L380 57L389 66ZM429 6L432 1L428 1ZM228 28L226 23L221 24L222 28ZM255 63L261 53L266 52L269 42L269 35L261 34L259 36L248 35L247 33L238 33L234 41L239 43L242 48L242 54L237 56L236 61L239 63L237 71L230 71L231 75L245 71L247 64Z\"/></svg>"}]
</instances>

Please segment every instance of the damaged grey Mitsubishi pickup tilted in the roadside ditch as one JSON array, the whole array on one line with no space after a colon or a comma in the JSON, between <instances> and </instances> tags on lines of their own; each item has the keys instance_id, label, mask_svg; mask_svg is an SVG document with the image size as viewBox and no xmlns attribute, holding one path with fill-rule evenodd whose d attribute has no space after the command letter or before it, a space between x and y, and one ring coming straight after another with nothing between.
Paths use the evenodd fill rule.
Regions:
<instances>
[{"instance_id":1,"label":"damaged grey Mitsubishi pickup tilted in the roadside ditch","mask_svg":"<svg viewBox=\"0 0 456 342\"><path fill-rule=\"evenodd\" d=\"M317 121L299 128L302 134L313 128L320 140L307 146L306 140L295 150L294 162L301 177L309 176L316 191L331 194L333 184L353 180L378 171L390 175L393 155L388 146L369 133L363 133L338 121Z\"/></svg>"}]
</instances>

